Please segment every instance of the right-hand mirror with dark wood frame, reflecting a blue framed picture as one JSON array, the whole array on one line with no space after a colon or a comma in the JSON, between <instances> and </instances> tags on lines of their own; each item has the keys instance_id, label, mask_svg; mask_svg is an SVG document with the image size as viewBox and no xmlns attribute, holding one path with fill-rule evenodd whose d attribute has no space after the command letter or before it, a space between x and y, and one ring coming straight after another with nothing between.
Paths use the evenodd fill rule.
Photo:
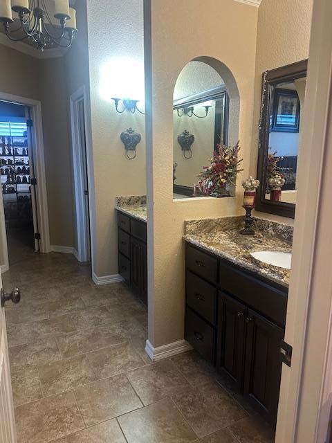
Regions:
<instances>
[{"instance_id":1,"label":"right-hand mirror with dark wood frame, reflecting a blue framed picture","mask_svg":"<svg viewBox=\"0 0 332 443\"><path fill-rule=\"evenodd\" d=\"M256 210L294 218L308 60L263 74Z\"/></svg>"}]
</instances>

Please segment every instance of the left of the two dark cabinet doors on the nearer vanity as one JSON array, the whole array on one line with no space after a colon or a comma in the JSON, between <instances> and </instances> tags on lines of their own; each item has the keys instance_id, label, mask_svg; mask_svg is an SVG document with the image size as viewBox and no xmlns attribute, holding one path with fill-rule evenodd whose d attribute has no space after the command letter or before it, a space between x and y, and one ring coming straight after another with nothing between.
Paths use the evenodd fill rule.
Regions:
<instances>
[{"instance_id":1,"label":"left of the two dark cabinet doors on the nearer vanity","mask_svg":"<svg viewBox=\"0 0 332 443\"><path fill-rule=\"evenodd\" d=\"M234 388L243 388L246 306L219 292L216 367L226 374Z\"/></svg>"}]
</instances>

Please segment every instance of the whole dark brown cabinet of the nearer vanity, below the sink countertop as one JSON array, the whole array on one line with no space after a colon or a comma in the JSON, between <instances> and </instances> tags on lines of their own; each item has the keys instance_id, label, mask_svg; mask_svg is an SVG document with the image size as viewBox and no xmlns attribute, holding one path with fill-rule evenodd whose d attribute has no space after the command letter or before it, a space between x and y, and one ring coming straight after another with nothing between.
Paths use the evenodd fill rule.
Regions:
<instances>
[{"instance_id":1,"label":"whole dark brown cabinet of the nearer vanity, below the sink countertop","mask_svg":"<svg viewBox=\"0 0 332 443\"><path fill-rule=\"evenodd\" d=\"M275 424L287 289L186 246L185 338Z\"/></svg>"}]
</instances>

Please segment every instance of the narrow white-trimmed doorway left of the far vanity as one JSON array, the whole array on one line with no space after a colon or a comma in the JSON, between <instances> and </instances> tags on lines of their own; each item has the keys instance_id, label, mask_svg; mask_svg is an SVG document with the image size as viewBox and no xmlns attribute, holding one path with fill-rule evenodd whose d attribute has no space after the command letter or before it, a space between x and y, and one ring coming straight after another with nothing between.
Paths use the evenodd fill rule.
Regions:
<instances>
[{"instance_id":1,"label":"narrow white-trimmed doorway left of the far vanity","mask_svg":"<svg viewBox=\"0 0 332 443\"><path fill-rule=\"evenodd\" d=\"M80 262L91 261L91 218L89 177L89 133L85 87L71 96L71 138L73 149L73 177L75 201L76 258Z\"/></svg>"}]
</instances>

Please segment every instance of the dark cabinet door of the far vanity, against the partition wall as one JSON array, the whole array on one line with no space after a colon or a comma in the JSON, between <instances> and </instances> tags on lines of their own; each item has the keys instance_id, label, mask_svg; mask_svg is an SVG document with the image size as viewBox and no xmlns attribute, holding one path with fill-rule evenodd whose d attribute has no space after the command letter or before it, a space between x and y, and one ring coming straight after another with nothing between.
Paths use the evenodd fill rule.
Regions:
<instances>
[{"instance_id":1,"label":"dark cabinet door of the far vanity, against the partition wall","mask_svg":"<svg viewBox=\"0 0 332 443\"><path fill-rule=\"evenodd\" d=\"M131 237L131 287L147 304L147 245Z\"/></svg>"}]
</instances>

